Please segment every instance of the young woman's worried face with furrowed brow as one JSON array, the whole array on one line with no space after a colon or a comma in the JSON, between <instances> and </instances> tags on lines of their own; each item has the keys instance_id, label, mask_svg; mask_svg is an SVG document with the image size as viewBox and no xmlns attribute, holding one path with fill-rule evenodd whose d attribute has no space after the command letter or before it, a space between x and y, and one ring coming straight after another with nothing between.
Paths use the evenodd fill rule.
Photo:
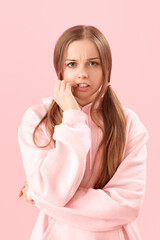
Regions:
<instances>
[{"instance_id":1,"label":"young woman's worried face with furrowed brow","mask_svg":"<svg viewBox=\"0 0 160 240\"><path fill-rule=\"evenodd\" d=\"M102 65L96 45L88 40L72 42L64 58L63 79L69 82L77 102L84 106L93 102L102 85ZM88 87L78 87L86 83Z\"/></svg>"}]
</instances>

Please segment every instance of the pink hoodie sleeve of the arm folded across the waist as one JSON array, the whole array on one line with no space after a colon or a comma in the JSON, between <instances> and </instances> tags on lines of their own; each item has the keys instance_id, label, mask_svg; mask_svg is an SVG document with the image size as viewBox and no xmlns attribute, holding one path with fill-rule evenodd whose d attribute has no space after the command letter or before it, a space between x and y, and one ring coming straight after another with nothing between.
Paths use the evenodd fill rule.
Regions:
<instances>
[{"instance_id":1,"label":"pink hoodie sleeve of the arm folded across the waist","mask_svg":"<svg viewBox=\"0 0 160 240\"><path fill-rule=\"evenodd\" d=\"M136 134L140 129L139 124L130 125L132 138L129 136L124 159L103 189L79 187L62 208L41 198L36 199L36 206L53 218L88 231L111 231L135 220L146 184L148 132Z\"/></svg>"}]
</instances>

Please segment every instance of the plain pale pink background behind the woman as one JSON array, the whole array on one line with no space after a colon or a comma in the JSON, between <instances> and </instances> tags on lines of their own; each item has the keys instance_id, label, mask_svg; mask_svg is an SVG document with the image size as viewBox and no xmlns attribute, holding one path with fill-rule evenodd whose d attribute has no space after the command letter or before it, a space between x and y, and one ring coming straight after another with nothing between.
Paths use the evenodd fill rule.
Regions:
<instances>
[{"instance_id":1,"label":"plain pale pink background behind the woman","mask_svg":"<svg viewBox=\"0 0 160 240\"><path fill-rule=\"evenodd\" d=\"M147 185L138 225L160 239L160 2L157 0L3 1L0 6L1 239L28 240L39 210L18 199L25 174L17 140L24 111L52 96L53 49L67 28L99 28L113 56L112 87L149 131Z\"/></svg>"}]
</instances>

